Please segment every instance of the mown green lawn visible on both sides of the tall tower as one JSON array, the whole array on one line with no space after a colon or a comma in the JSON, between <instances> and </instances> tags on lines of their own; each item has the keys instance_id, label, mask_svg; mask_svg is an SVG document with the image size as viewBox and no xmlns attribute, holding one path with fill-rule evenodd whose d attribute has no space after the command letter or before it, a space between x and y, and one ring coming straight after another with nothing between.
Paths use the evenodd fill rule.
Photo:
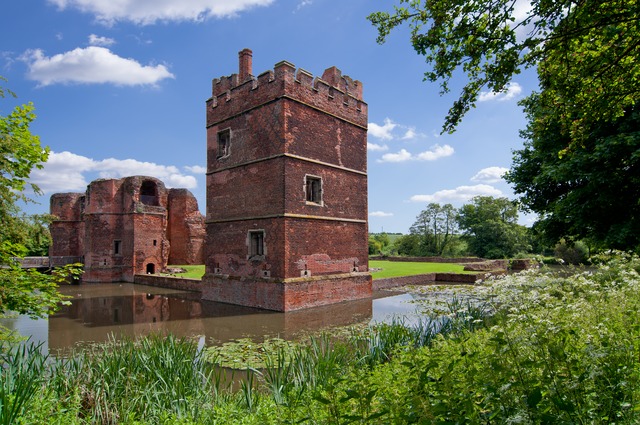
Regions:
<instances>
[{"instance_id":1,"label":"mown green lawn visible on both sides of the tall tower","mask_svg":"<svg viewBox=\"0 0 640 425\"><path fill-rule=\"evenodd\" d=\"M204 265L195 266L169 266L181 267L187 270L186 273L178 273L176 276L189 279L201 279L204 274ZM411 276L425 273L468 273L463 271L464 266L454 263L422 263L404 261L382 261L370 260L370 269L382 269L371 273L374 279L384 279L387 277Z\"/></svg>"}]
</instances>

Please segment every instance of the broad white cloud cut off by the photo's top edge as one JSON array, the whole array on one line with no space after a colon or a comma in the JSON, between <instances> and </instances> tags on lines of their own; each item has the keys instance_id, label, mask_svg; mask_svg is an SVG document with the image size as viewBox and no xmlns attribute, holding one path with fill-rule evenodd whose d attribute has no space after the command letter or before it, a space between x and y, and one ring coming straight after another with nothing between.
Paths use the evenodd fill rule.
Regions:
<instances>
[{"instance_id":1,"label":"broad white cloud cut off by the photo's top edge","mask_svg":"<svg viewBox=\"0 0 640 425\"><path fill-rule=\"evenodd\" d=\"M77 9L105 25L129 21L150 25L158 21L196 21L225 18L274 0L48 0L59 9Z\"/></svg>"}]
</instances>

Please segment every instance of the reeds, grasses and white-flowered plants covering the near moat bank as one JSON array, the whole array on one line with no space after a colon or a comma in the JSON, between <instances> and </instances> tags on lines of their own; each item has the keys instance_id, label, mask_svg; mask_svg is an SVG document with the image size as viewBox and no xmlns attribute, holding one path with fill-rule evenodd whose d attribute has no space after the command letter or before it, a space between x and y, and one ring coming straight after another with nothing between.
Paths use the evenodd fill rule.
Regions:
<instances>
[{"instance_id":1,"label":"reeds, grasses and white-flowered plants covering the near moat bank","mask_svg":"<svg viewBox=\"0 0 640 425\"><path fill-rule=\"evenodd\" d=\"M640 260L599 260L488 282L416 327L257 345L236 386L171 336L57 360L3 346L0 423L638 423Z\"/></svg>"}]
</instances>

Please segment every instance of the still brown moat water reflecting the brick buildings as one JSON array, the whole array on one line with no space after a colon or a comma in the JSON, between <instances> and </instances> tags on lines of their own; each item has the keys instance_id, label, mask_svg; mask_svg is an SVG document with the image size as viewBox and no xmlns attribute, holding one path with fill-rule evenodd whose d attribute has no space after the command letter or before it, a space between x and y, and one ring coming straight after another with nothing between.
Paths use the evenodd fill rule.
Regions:
<instances>
[{"instance_id":1,"label":"still brown moat water reflecting the brick buildings","mask_svg":"<svg viewBox=\"0 0 640 425\"><path fill-rule=\"evenodd\" d=\"M172 333L221 344L250 337L294 339L305 332L335 326L417 320L414 302L420 295L379 292L375 299L345 302L290 313L200 300L200 294L130 283L70 285L60 288L72 297L48 319L0 319L0 325L41 342L52 354L84 343L123 336Z\"/></svg>"}]
</instances>

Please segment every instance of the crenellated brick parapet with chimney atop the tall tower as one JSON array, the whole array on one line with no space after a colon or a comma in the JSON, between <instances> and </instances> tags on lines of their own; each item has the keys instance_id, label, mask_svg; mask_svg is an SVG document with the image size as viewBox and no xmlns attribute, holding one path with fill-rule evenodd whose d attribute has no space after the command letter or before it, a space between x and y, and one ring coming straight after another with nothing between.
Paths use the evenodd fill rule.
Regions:
<instances>
[{"instance_id":1,"label":"crenellated brick parapet with chimney atop the tall tower","mask_svg":"<svg viewBox=\"0 0 640 425\"><path fill-rule=\"evenodd\" d=\"M287 97L366 126L367 104L362 100L362 83L343 75L335 66L327 68L321 77L314 77L309 71L281 61L273 70L256 77L250 68L251 51L245 49L239 55L238 74L212 80L212 95L207 100L207 125L241 113L252 105Z\"/></svg>"}]
</instances>

